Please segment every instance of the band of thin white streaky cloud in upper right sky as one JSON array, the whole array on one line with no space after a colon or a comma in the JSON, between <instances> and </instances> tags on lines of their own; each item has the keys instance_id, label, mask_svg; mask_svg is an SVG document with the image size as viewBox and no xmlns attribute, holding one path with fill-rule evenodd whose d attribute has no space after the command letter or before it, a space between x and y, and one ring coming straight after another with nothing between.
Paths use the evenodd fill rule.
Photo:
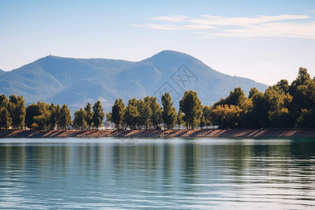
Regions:
<instances>
[{"instance_id":1,"label":"band of thin white streaky cloud in upper right sky","mask_svg":"<svg viewBox=\"0 0 315 210\"><path fill-rule=\"evenodd\" d=\"M158 23L133 26L160 30L190 30L195 31L195 34L207 34L204 37L315 38L315 22L309 22L310 18L308 15L259 15L254 18L227 18L218 15L192 18L185 15L170 15L153 17L152 20Z\"/></svg>"}]
</instances>

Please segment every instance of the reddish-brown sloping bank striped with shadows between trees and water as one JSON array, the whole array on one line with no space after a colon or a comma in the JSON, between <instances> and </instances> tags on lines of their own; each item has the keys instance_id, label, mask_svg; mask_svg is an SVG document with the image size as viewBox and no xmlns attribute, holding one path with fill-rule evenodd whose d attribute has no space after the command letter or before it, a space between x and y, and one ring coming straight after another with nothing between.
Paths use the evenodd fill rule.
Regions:
<instances>
[{"instance_id":1,"label":"reddish-brown sloping bank striped with shadows between trees and water","mask_svg":"<svg viewBox=\"0 0 315 210\"><path fill-rule=\"evenodd\" d=\"M222 137L222 138L314 138L315 130L1 130L3 138L89 137ZM1 140L0 140L1 141Z\"/></svg>"}]
</instances>

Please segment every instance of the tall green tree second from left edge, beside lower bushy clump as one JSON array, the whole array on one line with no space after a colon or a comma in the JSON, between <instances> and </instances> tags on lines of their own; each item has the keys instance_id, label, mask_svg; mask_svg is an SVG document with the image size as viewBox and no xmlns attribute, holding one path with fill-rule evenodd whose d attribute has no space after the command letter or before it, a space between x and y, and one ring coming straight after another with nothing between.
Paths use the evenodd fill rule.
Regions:
<instances>
[{"instance_id":1,"label":"tall green tree second from left edge, beside lower bushy clump","mask_svg":"<svg viewBox=\"0 0 315 210\"><path fill-rule=\"evenodd\" d=\"M10 117L12 118L12 126L15 129L23 129L25 123L25 100L23 97L16 97L12 94L8 107Z\"/></svg>"}]
</instances>

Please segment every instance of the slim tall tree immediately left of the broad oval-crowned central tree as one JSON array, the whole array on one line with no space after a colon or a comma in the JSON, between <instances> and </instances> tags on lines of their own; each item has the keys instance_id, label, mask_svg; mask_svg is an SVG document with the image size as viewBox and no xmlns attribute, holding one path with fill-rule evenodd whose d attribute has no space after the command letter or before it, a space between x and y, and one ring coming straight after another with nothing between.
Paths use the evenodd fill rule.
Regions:
<instances>
[{"instance_id":1,"label":"slim tall tree immediately left of the broad oval-crowned central tree","mask_svg":"<svg viewBox=\"0 0 315 210\"><path fill-rule=\"evenodd\" d=\"M161 97L161 101L163 122L167 125L167 129L172 129L176 125L177 120L176 108L173 106L172 97L168 92L165 92Z\"/></svg>"}]
</instances>

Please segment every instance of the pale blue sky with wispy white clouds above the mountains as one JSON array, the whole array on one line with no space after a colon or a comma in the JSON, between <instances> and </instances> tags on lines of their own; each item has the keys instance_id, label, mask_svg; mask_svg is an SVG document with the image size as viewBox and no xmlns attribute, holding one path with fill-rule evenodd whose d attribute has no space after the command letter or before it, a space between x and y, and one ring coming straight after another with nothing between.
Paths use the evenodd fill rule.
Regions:
<instances>
[{"instance_id":1,"label":"pale blue sky with wispy white clouds above the mountains","mask_svg":"<svg viewBox=\"0 0 315 210\"><path fill-rule=\"evenodd\" d=\"M0 0L4 71L47 55L140 61L162 50L267 85L300 66L314 77L315 1Z\"/></svg>"}]
</instances>

